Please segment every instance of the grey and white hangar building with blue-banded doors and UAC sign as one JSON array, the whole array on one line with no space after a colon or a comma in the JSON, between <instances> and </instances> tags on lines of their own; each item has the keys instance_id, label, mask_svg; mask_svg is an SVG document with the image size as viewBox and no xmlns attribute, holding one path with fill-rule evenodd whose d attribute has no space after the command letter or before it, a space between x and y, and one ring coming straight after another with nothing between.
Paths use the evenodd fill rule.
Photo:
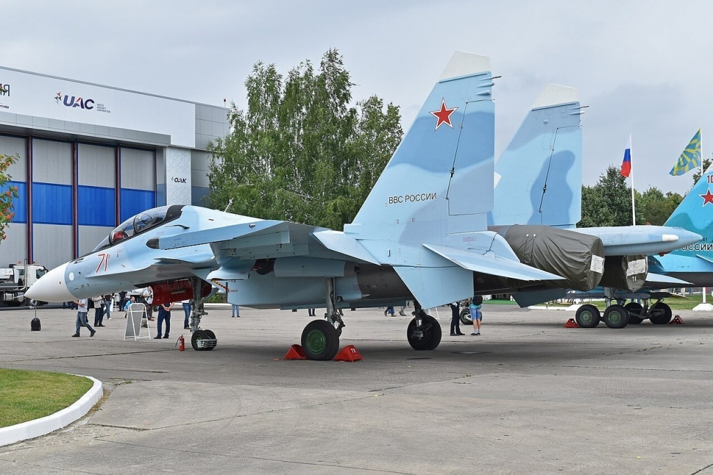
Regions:
<instances>
[{"instance_id":1,"label":"grey and white hangar building with blue-banded doors and UAC sign","mask_svg":"<svg viewBox=\"0 0 713 475\"><path fill-rule=\"evenodd\" d=\"M20 194L0 267L51 269L143 210L200 205L205 148L228 128L223 107L0 66L0 153L19 155Z\"/></svg>"}]
</instances>

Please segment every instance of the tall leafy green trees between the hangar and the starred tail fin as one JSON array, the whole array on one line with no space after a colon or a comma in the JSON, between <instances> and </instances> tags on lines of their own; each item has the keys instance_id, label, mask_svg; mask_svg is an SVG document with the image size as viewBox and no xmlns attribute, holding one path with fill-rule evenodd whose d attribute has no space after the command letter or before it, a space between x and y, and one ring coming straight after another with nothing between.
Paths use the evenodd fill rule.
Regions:
<instances>
[{"instance_id":1,"label":"tall leafy green trees between the hangar and the starred tail fin","mask_svg":"<svg viewBox=\"0 0 713 475\"><path fill-rule=\"evenodd\" d=\"M283 78L258 62L245 81L247 109L231 104L231 133L208 150L206 205L267 219L341 228L349 223L401 141L399 108L372 96L350 106L342 56Z\"/></svg>"}]
</instances>

